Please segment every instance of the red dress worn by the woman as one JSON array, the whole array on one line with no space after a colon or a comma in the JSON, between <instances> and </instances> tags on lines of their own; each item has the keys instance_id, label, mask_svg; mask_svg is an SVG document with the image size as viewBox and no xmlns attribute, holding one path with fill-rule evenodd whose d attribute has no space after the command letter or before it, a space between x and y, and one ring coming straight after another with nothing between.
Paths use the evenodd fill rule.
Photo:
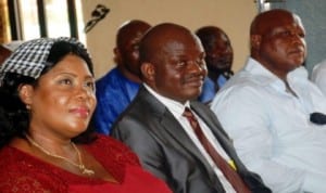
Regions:
<instances>
[{"instance_id":1,"label":"red dress worn by the woman","mask_svg":"<svg viewBox=\"0 0 326 193\"><path fill-rule=\"evenodd\" d=\"M15 147L4 146L0 151L0 192L172 193L163 181L143 170L137 156L121 142L99 136L84 149L118 183L80 177Z\"/></svg>"}]
</instances>

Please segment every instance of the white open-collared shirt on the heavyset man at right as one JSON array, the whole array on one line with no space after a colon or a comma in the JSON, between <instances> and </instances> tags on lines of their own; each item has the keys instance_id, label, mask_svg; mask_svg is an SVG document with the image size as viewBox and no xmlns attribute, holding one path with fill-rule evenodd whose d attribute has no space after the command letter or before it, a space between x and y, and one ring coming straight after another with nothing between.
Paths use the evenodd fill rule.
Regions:
<instances>
[{"instance_id":1,"label":"white open-collared shirt on the heavyset man at right","mask_svg":"<svg viewBox=\"0 0 326 193\"><path fill-rule=\"evenodd\" d=\"M226 82L211 108L234 140L247 167L273 192L326 192L326 126L310 114L326 114L326 99L304 67L285 83L253 59Z\"/></svg>"}]
</instances>

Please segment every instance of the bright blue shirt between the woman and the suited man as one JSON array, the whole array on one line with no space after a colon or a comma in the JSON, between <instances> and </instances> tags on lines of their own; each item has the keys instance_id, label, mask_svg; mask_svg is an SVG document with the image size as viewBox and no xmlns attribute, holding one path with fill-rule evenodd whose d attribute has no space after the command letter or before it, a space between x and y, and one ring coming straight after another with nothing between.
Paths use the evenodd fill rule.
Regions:
<instances>
[{"instance_id":1,"label":"bright blue shirt between the woman and the suited man","mask_svg":"<svg viewBox=\"0 0 326 193\"><path fill-rule=\"evenodd\" d=\"M140 83L130 81L115 67L96 82L98 104L93 124L98 132L110 134L112 124L129 105Z\"/></svg>"}]
</instances>

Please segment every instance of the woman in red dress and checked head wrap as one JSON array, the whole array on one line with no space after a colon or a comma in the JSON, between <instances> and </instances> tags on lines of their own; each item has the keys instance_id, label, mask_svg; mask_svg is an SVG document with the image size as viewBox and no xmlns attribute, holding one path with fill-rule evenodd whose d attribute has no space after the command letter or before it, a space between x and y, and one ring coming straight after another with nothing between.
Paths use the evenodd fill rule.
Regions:
<instances>
[{"instance_id":1,"label":"woman in red dress and checked head wrap","mask_svg":"<svg viewBox=\"0 0 326 193\"><path fill-rule=\"evenodd\" d=\"M97 101L80 42L23 43L0 66L0 192L171 192L125 145L88 127Z\"/></svg>"}]
</instances>

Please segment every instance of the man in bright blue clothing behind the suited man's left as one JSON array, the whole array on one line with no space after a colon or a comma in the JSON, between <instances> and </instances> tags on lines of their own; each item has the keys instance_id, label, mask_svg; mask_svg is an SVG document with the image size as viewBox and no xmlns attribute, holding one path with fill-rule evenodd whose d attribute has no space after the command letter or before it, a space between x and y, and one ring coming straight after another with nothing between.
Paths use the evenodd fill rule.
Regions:
<instances>
[{"instance_id":1,"label":"man in bright blue clothing behind the suited man's left","mask_svg":"<svg viewBox=\"0 0 326 193\"><path fill-rule=\"evenodd\" d=\"M92 123L100 133L110 133L112 124L138 92L141 83L138 43L150 27L143 21L133 20L124 23L117 31L116 66L96 82L98 105Z\"/></svg>"}]
</instances>

